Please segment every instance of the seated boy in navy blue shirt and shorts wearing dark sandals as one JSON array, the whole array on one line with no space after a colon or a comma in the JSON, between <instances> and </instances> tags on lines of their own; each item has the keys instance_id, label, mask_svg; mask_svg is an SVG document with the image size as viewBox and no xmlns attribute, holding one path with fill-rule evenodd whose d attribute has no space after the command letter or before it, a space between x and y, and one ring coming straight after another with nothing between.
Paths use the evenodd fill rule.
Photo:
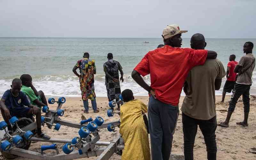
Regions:
<instances>
[{"instance_id":1,"label":"seated boy in navy blue shirt and shorts wearing dark sandals","mask_svg":"<svg viewBox=\"0 0 256 160\"><path fill-rule=\"evenodd\" d=\"M30 118L35 114L37 124L36 137L45 140L50 139L50 137L42 133L41 130L41 110L36 106L31 105L28 102L26 95L23 92L20 92L21 80L18 78L13 79L11 87L10 90L4 92L4 95L0 100L1 113L4 121L8 124L8 130L12 131L11 124L9 123L9 119L12 116ZM25 107L24 105L28 107Z\"/></svg>"}]
</instances>

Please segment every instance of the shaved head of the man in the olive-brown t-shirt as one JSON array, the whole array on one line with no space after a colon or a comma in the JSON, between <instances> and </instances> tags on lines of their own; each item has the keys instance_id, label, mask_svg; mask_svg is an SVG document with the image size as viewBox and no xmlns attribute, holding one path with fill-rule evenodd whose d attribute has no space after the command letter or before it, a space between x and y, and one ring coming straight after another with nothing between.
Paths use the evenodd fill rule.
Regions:
<instances>
[{"instance_id":1,"label":"shaved head of the man in the olive-brown t-shirt","mask_svg":"<svg viewBox=\"0 0 256 160\"><path fill-rule=\"evenodd\" d=\"M200 33L194 34L190 39L190 46L193 49L204 49L206 46L204 35Z\"/></svg>"}]
</instances>

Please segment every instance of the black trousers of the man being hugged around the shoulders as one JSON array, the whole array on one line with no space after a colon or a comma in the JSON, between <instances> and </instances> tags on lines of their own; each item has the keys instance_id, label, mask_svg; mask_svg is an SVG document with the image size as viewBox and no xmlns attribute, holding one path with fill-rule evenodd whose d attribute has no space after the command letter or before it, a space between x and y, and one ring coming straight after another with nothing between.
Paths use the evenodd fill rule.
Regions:
<instances>
[{"instance_id":1,"label":"black trousers of the man being hugged around the shoulders","mask_svg":"<svg viewBox=\"0 0 256 160\"><path fill-rule=\"evenodd\" d=\"M209 120L191 118L182 113L182 124L184 134L184 156L185 160L193 160L193 149L197 132L197 125L204 135L207 150L207 159L216 160L217 145L215 131L217 128L216 116Z\"/></svg>"}]
</instances>

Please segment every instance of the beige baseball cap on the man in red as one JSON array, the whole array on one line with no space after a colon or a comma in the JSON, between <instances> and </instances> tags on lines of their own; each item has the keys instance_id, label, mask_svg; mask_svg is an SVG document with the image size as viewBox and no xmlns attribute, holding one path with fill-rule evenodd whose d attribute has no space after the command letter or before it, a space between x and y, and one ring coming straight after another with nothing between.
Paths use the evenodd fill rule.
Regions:
<instances>
[{"instance_id":1,"label":"beige baseball cap on the man in red","mask_svg":"<svg viewBox=\"0 0 256 160\"><path fill-rule=\"evenodd\" d=\"M166 28L164 28L163 31L163 38L168 39L171 38L177 34L188 32L187 30L180 30L180 27L176 24L168 25Z\"/></svg>"}]
</instances>

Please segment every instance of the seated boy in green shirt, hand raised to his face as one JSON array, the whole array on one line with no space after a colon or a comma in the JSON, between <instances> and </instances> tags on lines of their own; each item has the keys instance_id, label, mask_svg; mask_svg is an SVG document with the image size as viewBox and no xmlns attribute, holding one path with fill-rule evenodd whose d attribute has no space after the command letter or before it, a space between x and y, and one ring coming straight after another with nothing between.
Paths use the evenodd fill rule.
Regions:
<instances>
[{"instance_id":1,"label":"seated boy in green shirt, hand raised to his face","mask_svg":"<svg viewBox=\"0 0 256 160\"><path fill-rule=\"evenodd\" d=\"M22 82L21 91L24 92L30 100L33 106L41 109L41 107L48 106L47 100L43 91L38 91L32 84L32 77L30 75L21 75L20 80Z\"/></svg>"}]
</instances>

